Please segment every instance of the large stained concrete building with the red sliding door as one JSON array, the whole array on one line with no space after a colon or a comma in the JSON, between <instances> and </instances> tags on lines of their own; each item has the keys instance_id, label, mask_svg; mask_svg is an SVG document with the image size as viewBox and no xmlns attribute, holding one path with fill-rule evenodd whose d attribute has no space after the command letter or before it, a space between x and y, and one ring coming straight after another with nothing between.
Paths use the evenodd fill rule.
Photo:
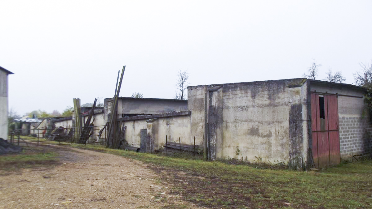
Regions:
<instances>
[{"instance_id":1,"label":"large stained concrete building with the red sliding door","mask_svg":"<svg viewBox=\"0 0 372 209\"><path fill-rule=\"evenodd\" d=\"M211 160L335 165L371 154L365 93L305 78L189 86L190 135L206 139Z\"/></svg>"}]
</instances>

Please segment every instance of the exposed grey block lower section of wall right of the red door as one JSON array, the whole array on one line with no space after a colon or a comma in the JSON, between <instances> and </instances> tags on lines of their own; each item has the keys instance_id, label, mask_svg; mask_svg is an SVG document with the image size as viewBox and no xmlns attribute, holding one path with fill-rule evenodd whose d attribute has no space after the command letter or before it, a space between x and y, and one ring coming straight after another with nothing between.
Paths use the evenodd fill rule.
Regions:
<instances>
[{"instance_id":1,"label":"exposed grey block lower section of wall right of the red door","mask_svg":"<svg viewBox=\"0 0 372 209\"><path fill-rule=\"evenodd\" d=\"M339 117L341 159L351 160L353 155L370 155L372 126L362 117Z\"/></svg>"}]
</instances>

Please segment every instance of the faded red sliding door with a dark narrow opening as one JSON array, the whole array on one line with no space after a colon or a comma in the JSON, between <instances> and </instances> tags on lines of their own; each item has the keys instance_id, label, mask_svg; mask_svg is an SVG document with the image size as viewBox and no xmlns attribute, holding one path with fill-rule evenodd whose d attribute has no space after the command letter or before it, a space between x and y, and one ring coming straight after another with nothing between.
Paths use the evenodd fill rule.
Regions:
<instances>
[{"instance_id":1,"label":"faded red sliding door with a dark narrow opening","mask_svg":"<svg viewBox=\"0 0 372 209\"><path fill-rule=\"evenodd\" d=\"M311 93L312 157L316 168L340 163L337 95Z\"/></svg>"}]
</instances>

